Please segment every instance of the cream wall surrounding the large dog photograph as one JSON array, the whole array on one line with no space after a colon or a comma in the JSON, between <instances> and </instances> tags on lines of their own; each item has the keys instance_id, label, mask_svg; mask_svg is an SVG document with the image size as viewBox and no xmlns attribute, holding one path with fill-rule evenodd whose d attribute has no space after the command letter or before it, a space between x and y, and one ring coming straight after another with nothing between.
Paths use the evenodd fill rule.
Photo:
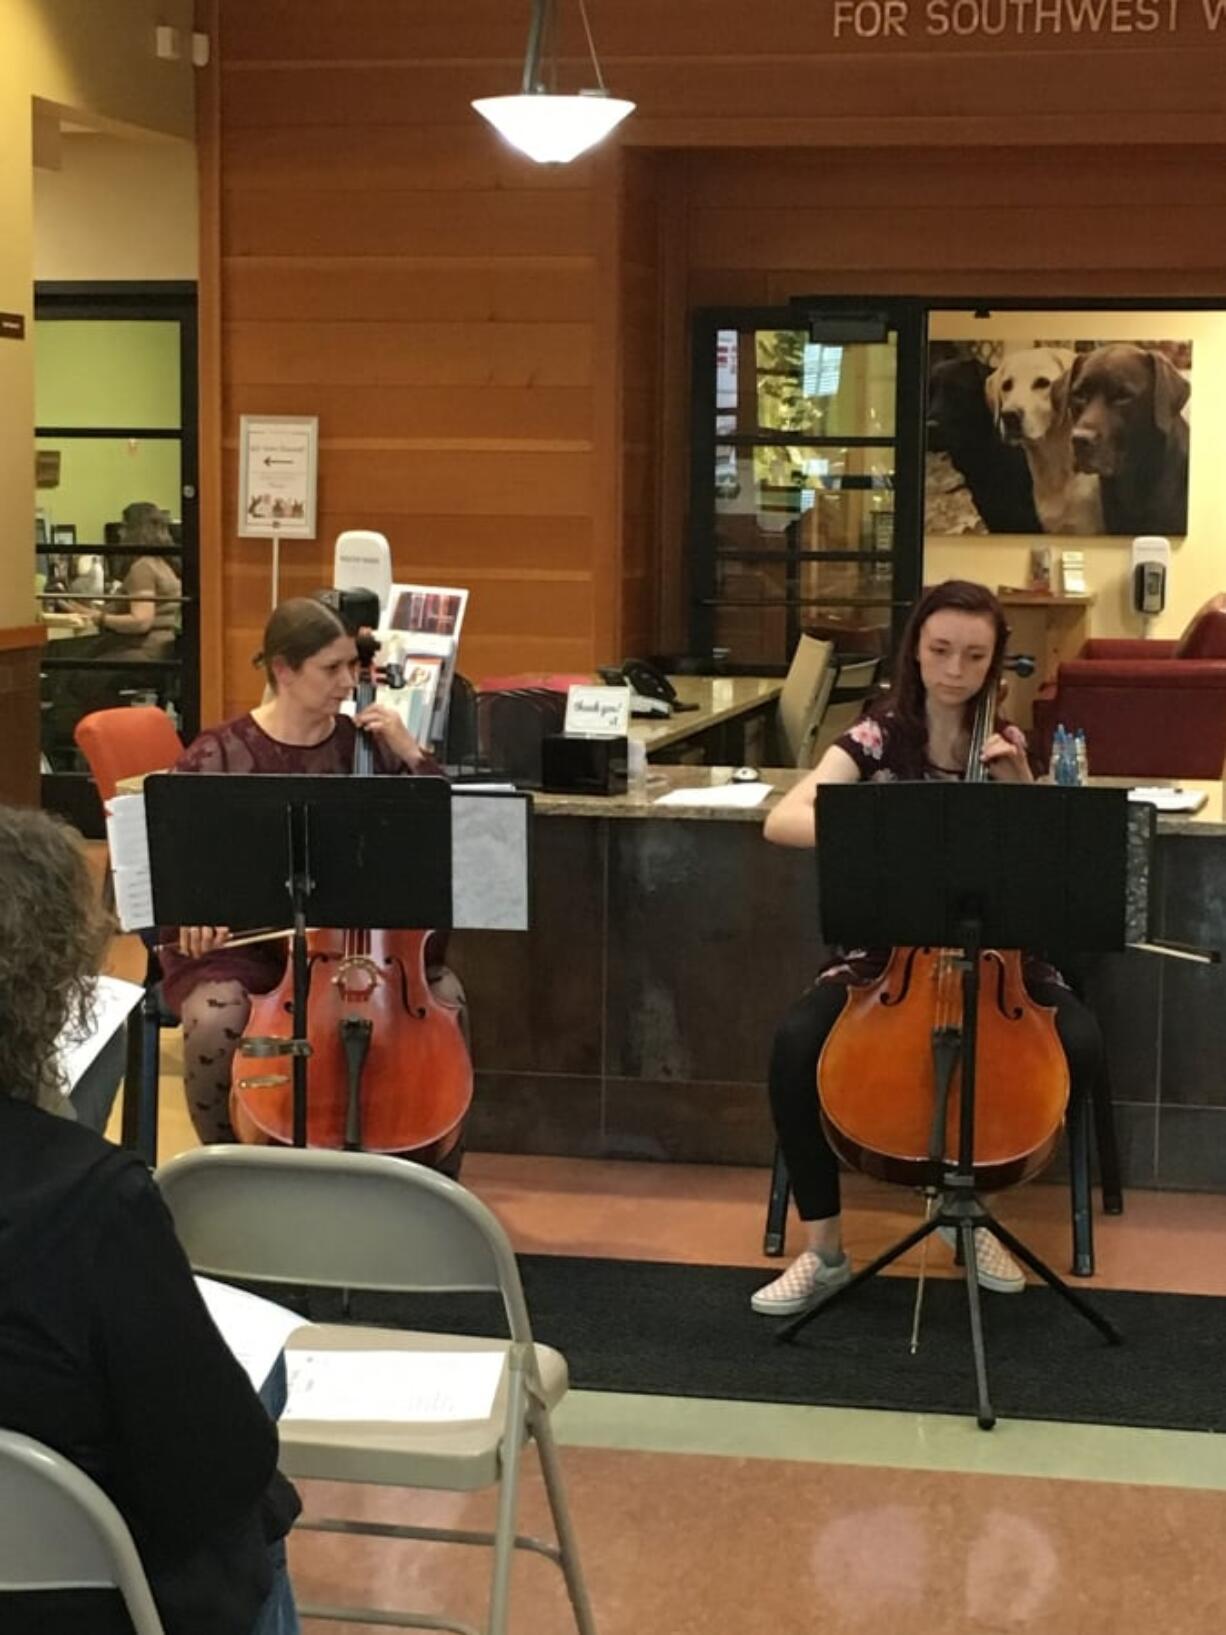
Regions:
<instances>
[{"instance_id":1,"label":"cream wall surrounding the large dog photograph","mask_svg":"<svg viewBox=\"0 0 1226 1635\"><path fill-rule=\"evenodd\" d=\"M933 340L973 340L976 332L1017 337L1020 345L1048 338L1192 340L1192 427L1188 453L1188 531L1172 540L1167 607L1148 631L1179 636L1208 597L1226 590L1226 312L1000 312L976 324L968 314L935 312ZM1069 538L1045 535L1053 553L1085 553L1085 585L1097 602L1090 611L1095 636L1141 636L1139 615L1131 611L1128 576L1131 540ZM999 585L1025 585L1035 536L964 535L933 538L924 548L924 577L981 579ZM1059 556L1056 554L1056 562Z\"/></svg>"}]
</instances>

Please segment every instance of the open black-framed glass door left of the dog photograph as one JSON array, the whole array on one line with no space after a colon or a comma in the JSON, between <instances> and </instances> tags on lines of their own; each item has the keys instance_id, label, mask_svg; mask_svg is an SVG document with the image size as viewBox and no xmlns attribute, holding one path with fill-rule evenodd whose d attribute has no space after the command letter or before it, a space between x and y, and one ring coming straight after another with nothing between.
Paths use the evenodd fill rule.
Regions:
<instances>
[{"instance_id":1,"label":"open black-framed glass door left of the dog photograph","mask_svg":"<svg viewBox=\"0 0 1226 1635\"><path fill-rule=\"evenodd\" d=\"M696 654L781 672L801 633L889 652L919 590L922 324L909 304L698 316Z\"/></svg>"}]
</instances>

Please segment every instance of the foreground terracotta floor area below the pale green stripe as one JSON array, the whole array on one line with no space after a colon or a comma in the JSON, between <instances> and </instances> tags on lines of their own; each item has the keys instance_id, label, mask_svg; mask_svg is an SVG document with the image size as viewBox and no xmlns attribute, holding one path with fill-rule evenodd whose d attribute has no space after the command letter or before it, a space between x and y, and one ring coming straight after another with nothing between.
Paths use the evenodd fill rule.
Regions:
<instances>
[{"instance_id":1,"label":"foreground terracotta floor area below the pale green stripe","mask_svg":"<svg viewBox=\"0 0 1226 1635\"><path fill-rule=\"evenodd\" d=\"M1221 1493L587 1449L566 1468L600 1635L1210 1635L1226 1619ZM450 1496L306 1496L319 1514L356 1496L369 1519L490 1516ZM526 1480L523 1530L546 1525ZM438 1547L299 1532L291 1568L302 1601L399 1597L476 1622L487 1592L484 1563ZM574 1628L546 1561L517 1561L510 1628Z\"/></svg>"}]
</instances>

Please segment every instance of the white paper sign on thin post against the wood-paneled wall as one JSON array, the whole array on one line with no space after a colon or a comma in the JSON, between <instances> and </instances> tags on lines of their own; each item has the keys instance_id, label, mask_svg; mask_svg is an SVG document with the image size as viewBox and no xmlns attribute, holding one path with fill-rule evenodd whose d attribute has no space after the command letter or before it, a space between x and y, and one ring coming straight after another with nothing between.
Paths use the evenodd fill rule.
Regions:
<instances>
[{"instance_id":1,"label":"white paper sign on thin post against the wood-paneled wall","mask_svg":"<svg viewBox=\"0 0 1226 1635\"><path fill-rule=\"evenodd\" d=\"M280 541L315 538L319 417L245 414L239 428L239 538L273 541L273 607Z\"/></svg>"}]
</instances>

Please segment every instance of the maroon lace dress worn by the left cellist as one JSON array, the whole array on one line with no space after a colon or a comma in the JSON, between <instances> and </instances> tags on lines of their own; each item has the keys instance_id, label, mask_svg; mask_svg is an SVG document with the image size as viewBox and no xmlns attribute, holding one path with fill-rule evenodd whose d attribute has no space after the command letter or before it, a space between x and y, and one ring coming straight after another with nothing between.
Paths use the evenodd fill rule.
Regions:
<instances>
[{"instance_id":1,"label":"maroon lace dress worn by the left cellist","mask_svg":"<svg viewBox=\"0 0 1226 1635\"><path fill-rule=\"evenodd\" d=\"M283 744L252 714L208 728L185 750L172 772L263 772L263 773L348 773L358 729L350 716L337 716L332 732L319 744ZM376 741L374 770L412 775ZM443 768L427 755L418 773L441 777ZM245 948L217 948L199 960L175 950L162 953L162 994L178 1012L198 983L242 983L248 994L268 994L284 976L288 942L257 942Z\"/></svg>"}]
</instances>

